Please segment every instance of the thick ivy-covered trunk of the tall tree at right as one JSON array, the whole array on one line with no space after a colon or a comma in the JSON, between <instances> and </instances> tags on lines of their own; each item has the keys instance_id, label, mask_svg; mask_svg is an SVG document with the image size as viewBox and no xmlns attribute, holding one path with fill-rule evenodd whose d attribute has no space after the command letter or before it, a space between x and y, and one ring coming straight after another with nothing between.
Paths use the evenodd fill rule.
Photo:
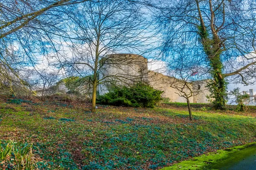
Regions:
<instances>
[{"instance_id":1,"label":"thick ivy-covered trunk of the tall tree at right","mask_svg":"<svg viewBox=\"0 0 256 170\"><path fill-rule=\"evenodd\" d=\"M209 97L214 98L214 109L225 109L225 97L227 95L227 83L223 76L223 64L221 62L221 53L225 50L224 41L218 36L218 28L215 26L215 14L212 7L212 0L209 0L210 22L209 30L205 26L204 18L202 17L201 9L199 6L199 0L196 0L198 9L198 16L200 18L201 25L198 26L198 35L201 39L201 43L204 47L204 52L209 60L212 75L212 81L208 84L211 95ZM221 28L221 27L219 27ZM209 36L209 31L211 36Z\"/></svg>"}]
</instances>

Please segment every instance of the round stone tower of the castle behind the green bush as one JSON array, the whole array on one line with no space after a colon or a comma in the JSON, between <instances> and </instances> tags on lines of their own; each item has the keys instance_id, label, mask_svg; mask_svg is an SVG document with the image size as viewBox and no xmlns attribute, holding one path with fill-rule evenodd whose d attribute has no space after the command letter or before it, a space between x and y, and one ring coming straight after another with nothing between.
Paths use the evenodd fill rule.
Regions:
<instances>
[{"instance_id":1,"label":"round stone tower of the castle behind the green bush","mask_svg":"<svg viewBox=\"0 0 256 170\"><path fill-rule=\"evenodd\" d=\"M148 81L148 60L136 54L112 54L100 61L99 94L103 95L113 85L129 86L138 81Z\"/></svg>"}]
</instances>

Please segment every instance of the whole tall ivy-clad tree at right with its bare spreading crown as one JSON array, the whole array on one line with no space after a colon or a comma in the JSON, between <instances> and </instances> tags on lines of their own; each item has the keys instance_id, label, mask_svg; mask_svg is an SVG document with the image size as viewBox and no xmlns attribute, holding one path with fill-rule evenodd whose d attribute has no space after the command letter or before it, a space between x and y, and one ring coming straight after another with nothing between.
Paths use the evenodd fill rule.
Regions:
<instances>
[{"instance_id":1,"label":"whole tall ivy-clad tree at right with its bare spreading crown","mask_svg":"<svg viewBox=\"0 0 256 170\"><path fill-rule=\"evenodd\" d=\"M244 84L255 79L255 6L255 0L162 0L157 8L163 52L177 54L183 40L194 49L189 55L209 68L215 109L224 109L227 77Z\"/></svg>"}]
</instances>

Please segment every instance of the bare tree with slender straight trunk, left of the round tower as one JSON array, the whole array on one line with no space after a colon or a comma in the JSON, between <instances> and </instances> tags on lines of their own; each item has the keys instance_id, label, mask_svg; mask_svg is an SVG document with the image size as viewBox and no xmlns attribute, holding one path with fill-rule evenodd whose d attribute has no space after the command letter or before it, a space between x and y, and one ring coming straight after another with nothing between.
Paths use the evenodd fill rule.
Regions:
<instances>
[{"instance_id":1,"label":"bare tree with slender straight trunk, left of the round tower","mask_svg":"<svg viewBox=\"0 0 256 170\"><path fill-rule=\"evenodd\" d=\"M151 37L147 18L141 5L127 0L83 3L75 9L70 8L67 14L73 21L70 32L77 41L70 45L72 54L65 58L56 56L55 64L64 68L67 75L90 77L93 89L91 111L96 112L97 86L106 78L99 79L99 73L103 72L106 63L120 66L132 60L116 60L112 55L116 52L142 53L146 50Z\"/></svg>"}]
</instances>

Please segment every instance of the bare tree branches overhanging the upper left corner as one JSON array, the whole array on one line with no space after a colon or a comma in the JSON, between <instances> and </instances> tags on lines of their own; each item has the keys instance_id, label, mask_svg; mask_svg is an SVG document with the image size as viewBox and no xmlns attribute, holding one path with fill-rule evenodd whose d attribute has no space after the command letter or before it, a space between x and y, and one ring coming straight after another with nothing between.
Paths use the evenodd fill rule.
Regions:
<instances>
[{"instance_id":1,"label":"bare tree branches overhanging the upper left corner","mask_svg":"<svg viewBox=\"0 0 256 170\"><path fill-rule=\"evenodd\" d=\"M65 32L65 7L85 1L1 0L0 69L8 68L23 84L20 69L35 67L42 56L59 53L61 43L56 41L56 37L70 38Z\"/></svg>"}]
</instances>

